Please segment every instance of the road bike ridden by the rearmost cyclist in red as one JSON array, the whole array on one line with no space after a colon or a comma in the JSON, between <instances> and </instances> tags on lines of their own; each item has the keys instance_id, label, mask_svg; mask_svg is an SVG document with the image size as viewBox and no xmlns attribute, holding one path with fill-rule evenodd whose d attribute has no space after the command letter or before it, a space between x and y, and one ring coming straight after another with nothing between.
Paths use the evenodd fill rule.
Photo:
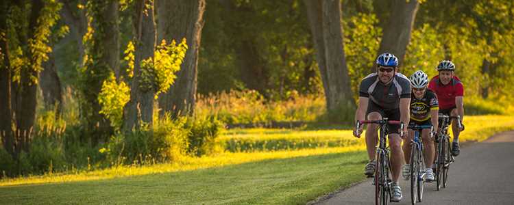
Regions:
<instances>
[{"instance_id":1,"label":"road bike ridden by the rearmost cyclist in red","mask_svg":"<svg viewBox=\"0 0 514 205\"><path fill-rule=\"evenodd\" d=\"M450 153L452 148L450 147L450 134L448 133L448 126L452 119L456 119L459 129L462 128L460 116L457 115L450 117L448 115L439 114L440 131L436 137L437 155L435 162L437 191L441 190L441 185L443 185L443 188L446 188L446 184L448 182L448 171L450 170L450 165L455 161L454 156Z\"/></svg>"}]
</instances>

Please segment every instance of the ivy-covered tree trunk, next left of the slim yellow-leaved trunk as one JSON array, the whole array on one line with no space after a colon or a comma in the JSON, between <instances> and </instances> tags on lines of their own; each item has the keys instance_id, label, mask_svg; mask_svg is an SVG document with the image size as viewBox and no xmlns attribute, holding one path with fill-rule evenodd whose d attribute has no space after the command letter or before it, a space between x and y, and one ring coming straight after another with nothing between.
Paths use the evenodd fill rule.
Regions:
<instances>
[{"instance_id":1,"label":"ivy-covered tree trunk, next left of the slim yellow-leaved trunk","mask_svg":"<svg viewBox=\"0 0 514 205\"><path fill-rule=\"evenodd\" d=\"M110 73L119 72L118 5L118 1L114 0L91 2L93 38L91 42L83 42L92 46L84 45L91 60L84 62L87 68L82 73L80 86L83 96L80 100L81 119L86 127L82 141L90 140L93 145L106 141L113 132L109 120L99 113L101 105L98 95Z\"/></svg>"}]
</instances>

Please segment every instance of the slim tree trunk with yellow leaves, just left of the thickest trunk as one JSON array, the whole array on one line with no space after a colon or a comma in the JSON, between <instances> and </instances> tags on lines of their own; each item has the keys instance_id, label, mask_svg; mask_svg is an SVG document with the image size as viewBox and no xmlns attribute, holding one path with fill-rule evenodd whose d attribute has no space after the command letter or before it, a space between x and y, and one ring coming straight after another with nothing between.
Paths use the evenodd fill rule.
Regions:
<instances>
[{"instance_id":1,"label":"slim tree trunk with yellow leaves, just left of the thickest trunk","mask_svg":"<svg viewBox=\"0 0 514 205\"><path fill-rule=\"evenodd\" d=\"M151 6L145 8L145 5ZM132 131L133 128L140 128L143 123L152 124L154 112L154 94L155 87L143 84L141 61L144 59L153 59L154 49L156 46L156 24L154 21L154 3L149 0L137 0L136 14L132 19L134 23L134 79L130 89L130 101L125 105L125 122L123 130L125 132ZM154 82L155 79L149 79Z\"/></svg>"}]
</instances>

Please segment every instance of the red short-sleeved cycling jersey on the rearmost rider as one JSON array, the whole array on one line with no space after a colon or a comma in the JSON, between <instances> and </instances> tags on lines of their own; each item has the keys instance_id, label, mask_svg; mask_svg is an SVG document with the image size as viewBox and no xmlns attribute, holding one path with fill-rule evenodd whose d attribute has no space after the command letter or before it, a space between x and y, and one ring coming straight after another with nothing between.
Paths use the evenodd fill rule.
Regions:
<instances>
[{"instance_id":1,"label":"red short-sleeved cycling jersey on the rearmost rider","mask_svg":"<svg viewBox=\"0 0 514 205\"><path fill-rule=\"evenodd\" d=\"M464 86L458 77L454 76L448 85L439 81L439 75L433 77L428 83L428 89L435 92L439 100L439 109L450 109L455 107L455 97L464 96Z\"/></svg>"}]
</instances>

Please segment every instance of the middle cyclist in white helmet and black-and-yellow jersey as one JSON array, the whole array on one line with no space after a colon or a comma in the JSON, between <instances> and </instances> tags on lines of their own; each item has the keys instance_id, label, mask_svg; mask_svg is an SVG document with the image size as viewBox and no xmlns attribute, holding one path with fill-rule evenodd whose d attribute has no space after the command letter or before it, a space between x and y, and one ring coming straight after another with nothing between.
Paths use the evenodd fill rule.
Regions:
<instances>
[{"instance_id":1,"label":"middle cyclist in white helmet and black-and-yellow jersey","mask_svg":"<svg viewBox=\"0 0 514 205\"><path fill-rule=\"evenodd\" d=\"M433 125L437 130L438 125L438 111L439 103L437 102L437 96L431 90L427 89L428 76L421 70L416 71L411 76L411 85L413 92L411 95L411 124L417 125ZM414 131L408 130L408 137L404 139L404 154L405 154L405 165L402 169L402 176L404 180L411 178L411 143L413 139ZM434 172L432 172L432 164L435 157L435 147L430 137L430 129L425 128L421 131L421 138L423 139L424 146L424 157L426 163L425 177L428 182L434 180Z\"/></svg>"}]
</instances>

